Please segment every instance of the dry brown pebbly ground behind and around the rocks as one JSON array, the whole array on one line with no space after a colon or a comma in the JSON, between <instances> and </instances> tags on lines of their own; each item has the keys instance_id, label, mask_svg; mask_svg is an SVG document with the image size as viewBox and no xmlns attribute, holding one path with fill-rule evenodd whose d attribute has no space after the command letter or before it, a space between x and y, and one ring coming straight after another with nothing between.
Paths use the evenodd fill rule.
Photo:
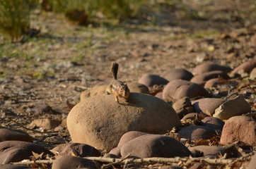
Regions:
<instances>
[{"instance_id":1,"label":"dry brown pebbly ground behind and around the rocks","mask_svg":"<svg viewBox=\"0 0 256 169\"><path fill-rule=\"evenodd\" d=\"M35 144L46 149L71 142L65 120L71 105L80 101L81 92L112 80L112 62L120 64L118 78L126 82L138 82L145 73L161 75L170 68L193 72L206 61L231 69L249 61L254 62L255 68L256 26L253 23L241 26L236 20L193 20L171 14L171 20L161 18L149 25L134 22L120 27L81 27L69 23L62 15L37 13L33 18L33 26L40 27L41 31L37 37L13 44L1 38L1 127L23 130L33 137ZM230 99L242 95L250 105L250 118L255 119L252 69L228 74L231 80L220 80L221 84L206 89L209 97ZM66 104L67 101L71 105ZM188 124L194 125L185 122L182 127ZM186 146L220 145L219 138L214 138L194 143L178 140ZM233 161L231 165L226 158L218 158L224 161L220 163L193 158L190 162L202 164L197 168L245 168L255 153L255 142L249 148L238 142L234 144L245 157L227 158ZM41 158L37 155L30 160ZM52 156L42 159L52 159ZM182 168L192 166L187 160L178 161L175 165ZM142 166L128 165L129 168ZM162 163L145 166L158 168ZM51 168L51 165L40 167Z\"/></svg>"}]
</instances>

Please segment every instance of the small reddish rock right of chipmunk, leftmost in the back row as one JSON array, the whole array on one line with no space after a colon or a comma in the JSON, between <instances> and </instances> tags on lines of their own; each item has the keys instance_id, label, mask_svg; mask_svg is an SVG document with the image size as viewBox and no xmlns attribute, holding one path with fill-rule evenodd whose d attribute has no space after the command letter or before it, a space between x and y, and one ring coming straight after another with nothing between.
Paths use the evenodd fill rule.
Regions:
<instances>
[{"instance_id":1,"label":"small reddish rock right of chipmunk, leftmost in the back row","mask_svg":"<svg viewBox=\"0 0 256 169\"><path fill-rule=\"evenodd\" d=\"M146 85L147 87L153 87L153 85L168 84L168 80L158 75L146 74L139 79L139 83Z\"/></svg>"}]
</instances>

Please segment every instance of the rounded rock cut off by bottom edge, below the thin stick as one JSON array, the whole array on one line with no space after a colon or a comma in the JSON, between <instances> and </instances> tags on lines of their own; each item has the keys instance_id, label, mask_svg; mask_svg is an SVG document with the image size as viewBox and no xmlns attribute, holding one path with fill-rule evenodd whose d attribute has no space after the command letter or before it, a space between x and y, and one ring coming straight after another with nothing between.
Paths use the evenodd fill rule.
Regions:
<instances>
[{"instance_id":1,"label":"rounded rock cut off by bottom edge, below the thin stick","mask_svg":"<svg viewBox=\"0 0 256 169\"><path fill-rule=\"evenodd\" d=\"M93 161L76 156L62 156L52 163L52 169L87 168L96 169Z\"/></svg>"}]
</instances>

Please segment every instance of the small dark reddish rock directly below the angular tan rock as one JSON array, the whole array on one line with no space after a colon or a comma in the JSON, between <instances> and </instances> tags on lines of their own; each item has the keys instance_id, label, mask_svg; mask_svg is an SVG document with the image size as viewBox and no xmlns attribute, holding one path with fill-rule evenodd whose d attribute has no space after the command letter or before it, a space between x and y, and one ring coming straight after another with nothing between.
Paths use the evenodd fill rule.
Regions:
<instances>
[{"instance_id":1,"label":"small dark reddish rock directly below the angular tan rock","mask_svg":"<svg viewBox=\"0 0 256 169\"><path fill-rule=\"evenodd\" d=\"M206 117L200 122L200 125L205 126L205 127L209 127L212 130L222 131L223 126L225 125L225 123L223 122L223 120L221 120L219 118Z\"/></svg>"}]
</instances>

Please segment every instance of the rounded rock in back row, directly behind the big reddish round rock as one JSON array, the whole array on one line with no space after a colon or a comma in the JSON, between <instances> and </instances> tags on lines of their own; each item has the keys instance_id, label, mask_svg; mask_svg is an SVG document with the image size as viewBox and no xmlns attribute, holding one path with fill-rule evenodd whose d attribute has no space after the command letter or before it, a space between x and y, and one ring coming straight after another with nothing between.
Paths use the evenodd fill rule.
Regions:
<instances>
[{"instance_id":1,"label":"rounded rock in back row, directly behind the big reddish round rock","mask_svg":"<svg viewBox=\"0 0 256 169\"><path fill-rule=\"evenodd\" d=\"M178 79L191 80L192 77L194 77L194 75L192 73L190 73L189 71L187 71L183 68L172 68L170 70L166 70L160 76L165 78L169 82L171 80L178 80Z\"/></svg>"}]
</instances>

